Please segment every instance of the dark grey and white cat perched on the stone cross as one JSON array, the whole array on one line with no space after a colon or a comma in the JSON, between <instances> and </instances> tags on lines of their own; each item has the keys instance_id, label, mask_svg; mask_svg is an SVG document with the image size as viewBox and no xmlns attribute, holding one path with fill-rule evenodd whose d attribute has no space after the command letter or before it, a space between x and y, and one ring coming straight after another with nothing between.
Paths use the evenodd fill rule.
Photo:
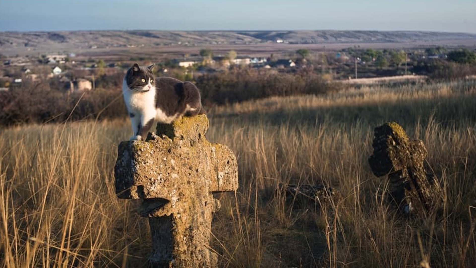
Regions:
<instances>
[{"instance_id":1,"label":"dark grey and white cat perched on the stone cross","mask_svg":"<svg viewBox=\"0 0 476 268\"><path fill-rule=\"evenodd\" d=\"M122 85L124 102L134 132L130 140L145 139L155 122L170 124L181 116L205 114L200 92L192 82L152 74L154 64L135 63Z\"/></svg>"}]
</instances>

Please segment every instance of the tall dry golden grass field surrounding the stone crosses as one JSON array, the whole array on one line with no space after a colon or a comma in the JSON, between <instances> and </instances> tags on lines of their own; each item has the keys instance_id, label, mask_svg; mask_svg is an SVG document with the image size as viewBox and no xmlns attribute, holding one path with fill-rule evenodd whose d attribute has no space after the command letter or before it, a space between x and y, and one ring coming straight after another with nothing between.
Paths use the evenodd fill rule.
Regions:
<instances>
[{"instance_id":1,"label":"tall dry golden grass field surrounding the stone crosses","mask_svg":"<svg viewBox=\"0 0 476 268\"><path fill-rule=\"evenodd\" d=\"M217 196L220 267L473 267L476 81L272 97L209 111L208 140L238 158L239 189ZM367 164L373 128L401 124L428 149L443 208L405 217ZM149 227L118 199L126 119L0 129L2 267L139 267ZM293 206L279 184L324 183L341 198Z\"/></svg>"}]
</instances>

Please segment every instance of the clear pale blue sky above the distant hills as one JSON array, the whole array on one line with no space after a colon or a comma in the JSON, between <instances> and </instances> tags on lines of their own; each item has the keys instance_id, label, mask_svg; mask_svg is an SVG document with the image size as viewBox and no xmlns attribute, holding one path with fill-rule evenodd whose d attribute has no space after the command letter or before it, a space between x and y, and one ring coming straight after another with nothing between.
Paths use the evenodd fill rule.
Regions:
<instances>
[{"instance_id":1,"label":"clear pale blue sky above the distant hills","mask_svg":"<svg viewBox=\"0 0 476 268\"><path fill-rule=\"evenodd\" d=\"M476 0L0 0L0 31L476 33Z\"/></svg>"}]
</instances>

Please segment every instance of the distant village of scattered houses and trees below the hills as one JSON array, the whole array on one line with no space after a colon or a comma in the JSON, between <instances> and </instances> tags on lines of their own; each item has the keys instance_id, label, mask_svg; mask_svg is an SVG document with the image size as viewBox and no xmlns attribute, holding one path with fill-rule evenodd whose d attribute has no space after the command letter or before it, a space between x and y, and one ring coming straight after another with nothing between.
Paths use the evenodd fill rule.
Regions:
<instances>
[{"instance_id":1,"label":"distant village of scattered houses and trees below the hills","mask_svg":"<svg viewBox=\"0 0 476 268\"><path fill-rule=\"evenodd\" d=\"M279 40L282 41L282 40ZM316 72L328 81L350 81L356 78L406 76L428 72L428 64L446 61L449 50L427 48L414 50L373 50L349 47L334 52L299 49L275 56L238 55L235 51L214 55L210 49L182 54L156 62L145 57L109 59L85 57L74 52L40 56L1 56L0 91L24 87L26 84L49 82L51 89L65 93L94 90L97 87L120 86L120 77L134 63L155 63L157 75L193 81L209 73L233 69L256 69L262 72ZM474 53L474 52L473 52ZM278 53L277 53L278 54ZM104 59L102 59L104 58ZM417 77L416 77L417 78ZM118 80L112 82L111 80ZM106 81L106 82L105 82Z\"/></svg>"}]
</instances>

